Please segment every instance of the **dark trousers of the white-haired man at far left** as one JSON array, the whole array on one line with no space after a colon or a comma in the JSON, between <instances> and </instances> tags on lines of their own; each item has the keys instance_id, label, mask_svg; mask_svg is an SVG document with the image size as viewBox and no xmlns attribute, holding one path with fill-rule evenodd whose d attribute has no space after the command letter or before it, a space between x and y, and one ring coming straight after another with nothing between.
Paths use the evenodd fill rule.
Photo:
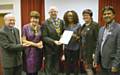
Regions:
<instances>
[{"instance_id":1,"label":"dark trousers of the white-haired man at far left","mask_svg":"<svg viewBox=\"0 0 120 75\"><path fill-rule=\"evenodd\" d=\"M4 68L4 75L22 75L22 66Z\"/></svg>"}]
</instances>

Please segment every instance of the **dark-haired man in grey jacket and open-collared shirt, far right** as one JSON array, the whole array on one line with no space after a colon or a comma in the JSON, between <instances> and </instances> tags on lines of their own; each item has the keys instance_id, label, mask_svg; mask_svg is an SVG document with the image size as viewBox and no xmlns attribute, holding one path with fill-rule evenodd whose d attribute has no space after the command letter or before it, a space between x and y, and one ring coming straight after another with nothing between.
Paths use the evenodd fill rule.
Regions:
<instances>
[{"instance_id":1,"label":"dark-haired man in grey jacket and open-collared shirt, far right","mask_svg":"<svg viewBox=\"0 0 120 75\"><path fill-rule=\"evenodd\" d=\"M98 35L96 47L96 64L100 64L100 75L120 75L120 24L115 22L113 7L106 6L103 9L103 26Z\"/></svg>"}]
</instances>

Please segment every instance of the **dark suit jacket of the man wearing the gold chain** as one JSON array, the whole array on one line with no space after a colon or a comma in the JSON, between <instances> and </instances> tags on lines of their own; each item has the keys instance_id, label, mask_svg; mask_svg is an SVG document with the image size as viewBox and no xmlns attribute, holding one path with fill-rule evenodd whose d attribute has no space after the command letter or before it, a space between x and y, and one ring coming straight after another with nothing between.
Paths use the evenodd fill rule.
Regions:
<instances>
[{"instance_id":1,"label":"dark suit jacket of the man wearing the gold chain","mask_svg":"<svg viewBox=\"0 0 120 75\"><path fill-rule=\"evenodd\" d=\"M60 21L60 34L55 30L55 27L52 23L52 20L49 18L45 21L44 27L43 27L43 41L45 44L45 53L47 54L56 54L56 52L60 51L60 46L57 46L54 44L54 40L59 40L60 36L63 32L64 23L61 19L58 19Z\"/></svg>"}]
</instances>

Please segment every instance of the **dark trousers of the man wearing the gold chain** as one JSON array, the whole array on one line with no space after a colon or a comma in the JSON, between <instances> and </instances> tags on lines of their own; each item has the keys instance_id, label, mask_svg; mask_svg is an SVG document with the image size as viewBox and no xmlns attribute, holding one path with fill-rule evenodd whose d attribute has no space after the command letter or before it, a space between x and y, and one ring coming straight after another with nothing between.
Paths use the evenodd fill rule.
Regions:
<instances>
[{"instance_id":1,"label":"dark trousers of the man wearing the gold chain","mask_svg":"<svg viewBox=\"0 0 120 75\"><path fill-rule=\"evenodd\" d=\"M59 55L51 54L45 56L45 75L58 75Z\"/></svg>"}]
</instances>

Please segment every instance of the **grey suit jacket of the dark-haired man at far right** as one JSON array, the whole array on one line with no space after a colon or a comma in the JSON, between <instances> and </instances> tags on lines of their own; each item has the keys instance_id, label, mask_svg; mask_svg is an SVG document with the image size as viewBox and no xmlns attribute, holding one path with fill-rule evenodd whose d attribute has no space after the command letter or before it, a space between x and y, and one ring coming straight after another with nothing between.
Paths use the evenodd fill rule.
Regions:
<instances>
[{"instance_id":1,"label":"grey suit jacket of the dark-haired man at far right","mask_svg":"<svg viewBox=\"0 0 120 75\"><path fill-rule=\"evenodd\" d=\"M104 31L105 27L102 27L99 31L96 47L96 63L101 64L106 69L120 67L120 24L112 23L101 51Z\"/></svg>"}]
</instances>

